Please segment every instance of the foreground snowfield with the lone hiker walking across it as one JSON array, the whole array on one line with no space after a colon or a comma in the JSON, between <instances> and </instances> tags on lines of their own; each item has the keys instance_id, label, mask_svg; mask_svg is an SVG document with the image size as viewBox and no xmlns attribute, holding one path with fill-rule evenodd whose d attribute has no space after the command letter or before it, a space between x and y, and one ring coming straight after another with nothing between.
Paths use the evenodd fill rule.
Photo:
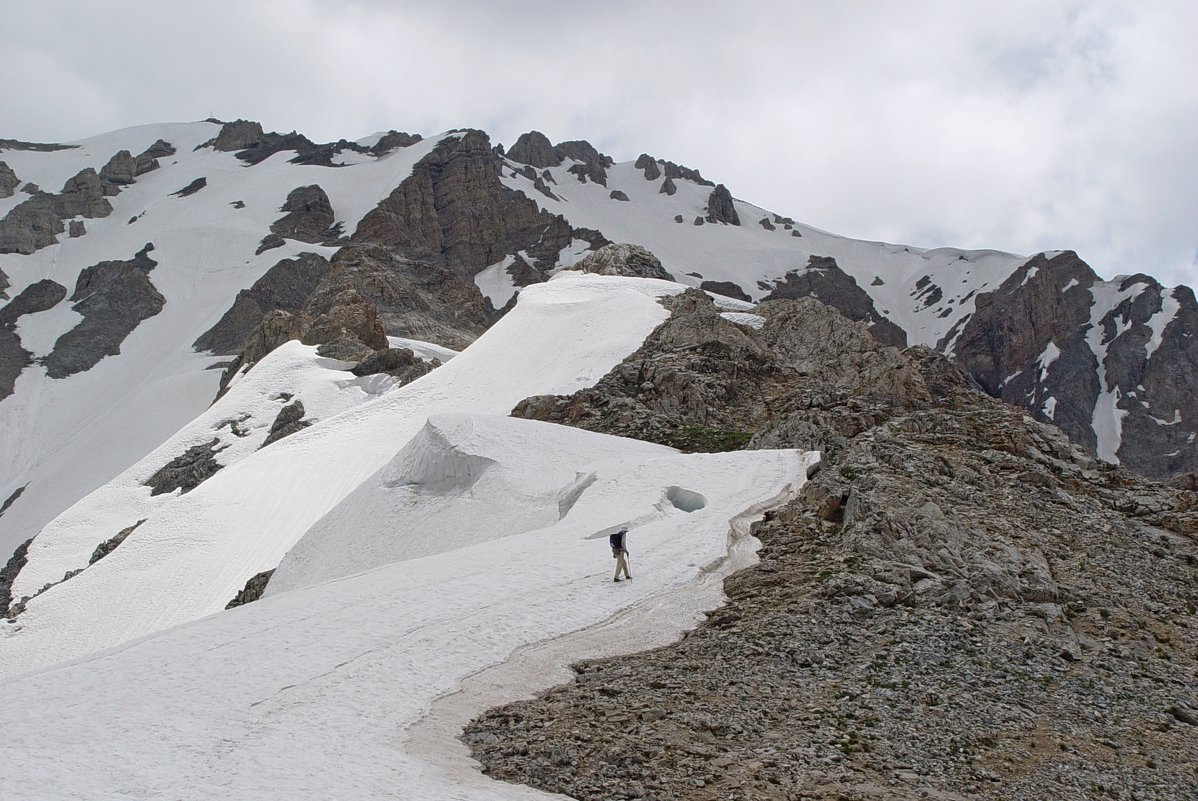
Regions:
<instances>
[{"instance_id":1,"label":"foreground snowfield with the lone hiker walking across it","mask_svg":"<svg viewBox=\"0 0 1198 801\"><path fill-rule=\"evenodd\" d=\"M0 684L0 727L8 753L19 754L0 764L0 793L46 801L557 797L447 772L412 741L412 727L435 699L525 647L633 607L637 627L664 625L727 553L730 520L792 492L810 461L795 451L684 455L507 418L452 415L430 426L438 436L416 449L425 466L473 454L496 460L483 475L527 474L531 486L562 467L595 480L558 520L531 528L518 504L479 508L476 491L489 496L498 485L458 481L430 491L417 510L376 504L345 521L340 545L415 545L444 533L428 528L435 518L474 521L486 534ZM587 465L580 450L600 459ZM701 496L702 508L661 508L671 487ZM629 535L635 581L613 584L601 534L629 516L641 518ZM530 675L508 693L534 682Z\"/></svg>"}]
</instances>

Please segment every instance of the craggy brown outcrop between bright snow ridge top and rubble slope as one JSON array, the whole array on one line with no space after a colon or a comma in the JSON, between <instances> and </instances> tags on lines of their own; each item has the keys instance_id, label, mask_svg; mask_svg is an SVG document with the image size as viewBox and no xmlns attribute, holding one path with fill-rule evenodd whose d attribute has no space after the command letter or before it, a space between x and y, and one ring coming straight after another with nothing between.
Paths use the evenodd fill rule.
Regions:
<instances>
[{"instance_id":1,"label":"craggy brown outcrop between bright snow ridge top and rubble slope","mask_svg":"<svg viewBox=\"0 0 1198 801\"><path fill-rule=\"evenodd\" d=\"M598 384L569 398L527 399L512 414L688 451L733 450L754 437L819 449L869 426L878 417L873 406L925 400L897 351L817 301L760 304L761 330L725 320L700 290L666 304L670 318ZM829 342L837 350L825 357ZM788 424L824 382L840 387L834 411L801 431Z\"/></svg>"}]
</instances>

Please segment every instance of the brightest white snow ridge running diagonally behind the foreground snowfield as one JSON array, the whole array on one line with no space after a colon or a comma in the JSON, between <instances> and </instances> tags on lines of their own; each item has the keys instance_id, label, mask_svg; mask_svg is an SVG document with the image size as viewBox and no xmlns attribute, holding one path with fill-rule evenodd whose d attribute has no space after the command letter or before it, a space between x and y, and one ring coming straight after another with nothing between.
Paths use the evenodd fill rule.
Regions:
<instances>
[{"instance_id":1,"label":"brightest white snow ridge running diagonally behind the foreground snowfield","mask_svg":"<svg viewBox=\"0 0 1198 801\"><path fill-rule=\"evenodd\" d=\"M430 414L507 414L530 395L588 387L665 320L658 298L683 289L574 272L526 289L512 312L446 365L156 504L110 556L34 597L17 623L0 621L0 675L220 611L246 579L277 566L314 523L389 462ZM85 499L71 516L91 520L107 539L133 521L126 506L109 508L104 497ZM30 564L38 563L38 576L59 579L63 565L79 566L85 548L73 540L58 546L55 539L35 540L38 554ZM23 587L36 581L24 571L23 579Z\"/></svg>"}]
</instances>

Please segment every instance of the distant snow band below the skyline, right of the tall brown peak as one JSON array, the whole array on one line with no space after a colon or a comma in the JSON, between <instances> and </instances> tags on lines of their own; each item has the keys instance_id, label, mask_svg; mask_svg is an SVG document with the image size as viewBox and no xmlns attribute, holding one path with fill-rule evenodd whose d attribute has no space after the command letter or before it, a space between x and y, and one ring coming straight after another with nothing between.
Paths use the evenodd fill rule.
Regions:
<instances>
[{"instance_id":1,"label":"distant snow band below the skyline, right of the tall brown peak","mask_svg":"<svg viewBox=\"0 0 1198 801\"><path fill-rule=\"evenodd\" d=\"M863 242L803 224L786 230L779 223L769 231L760 220L769 218L773 223L775 216L740 200L734 201L739 226L694 225L696 217L706 217L712 187L676 178L677 193L660 194L665 178L646 181L633 162L607 168L607 186L601 187L580 183L568 172L574 162L565 159L561 166L549 168L557 181L549 184L559 198L553 200L533 189L527 177L512 175L522 165L509 164L512 169L502 175L507 186L524 192L541 208L562 214L576 227L598 229L613 242L648 248L677 280L691 286L703 280L732 281L760 301L770 290L761 289L758 281L772 284L789 271L801 269L811 255L831 256L873 298L878 311L907 332L913 345L934 346L955 323L973 312L978 292L997 289L1027 262L1025 256L998 250L924 250ZM624 192L629 202L611 200L612 190ZM683 223L674 222L677 214ZM793 231L801 236L793 236ZM885 283L875 286L873 279L879 274L885 275ZM930 285L920 292L915 285L925 277ZM927 303L932 286L940 289L942 297Z\"/></svg>"}]
</instances>

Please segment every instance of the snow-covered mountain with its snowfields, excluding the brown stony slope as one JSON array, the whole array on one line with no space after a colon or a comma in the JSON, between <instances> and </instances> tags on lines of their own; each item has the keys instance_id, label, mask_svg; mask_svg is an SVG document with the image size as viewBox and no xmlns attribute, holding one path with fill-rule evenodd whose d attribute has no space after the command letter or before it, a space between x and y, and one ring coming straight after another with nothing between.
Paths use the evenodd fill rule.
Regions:
<instances>
[{"instance_id":1,"label":"snow-covered mountain with its snowfields, excluding the brown stony slope","mask_svg":"<svg viewBox=\"0 0 1198 801\"><path fill-rule=\"evenodd\" d=\"M0 787L290 797L315 779L289 777L307 757L284 752L316 764L389 694L347 763L357 795L533 797L447 773L452 754L413 727L521 649L633 611L660 624L633 642L665 642L714 602L713 577L750 558L749 523L817 461L769 437L736 450L750 435L715 405L768 376L745 408L781 419L835 395L797 376L842 369L932 402L893 350L839 365L789 341L801 307L766 302L807 296L873 340L951 357L1108 462L1198 468L1193 292L1100 281L1070 251L849 239L697 170L537 132L507 150L472 129L315 144L244 121L0 141L0 724L46 754L0 763ZM767 321L786 370L749 335ZM651 336L744 363L702 386L673 365L642 375L628 364ZM624 433L641 389L653 414L721 420L684 431L686 450L732 453L507 417L525 401ZM637 578L613 595L601 557L619 526ZM546 659L518 692L569 661ZM114 784L93 726L139 693L189 699L179 736L145 736L161 708L122 718L144 758ZM23 714L28 698L69 708L69 783L48 761L63 718ZM262 765L278 770L242 772Z\"/></svg>"}]
</instances>

